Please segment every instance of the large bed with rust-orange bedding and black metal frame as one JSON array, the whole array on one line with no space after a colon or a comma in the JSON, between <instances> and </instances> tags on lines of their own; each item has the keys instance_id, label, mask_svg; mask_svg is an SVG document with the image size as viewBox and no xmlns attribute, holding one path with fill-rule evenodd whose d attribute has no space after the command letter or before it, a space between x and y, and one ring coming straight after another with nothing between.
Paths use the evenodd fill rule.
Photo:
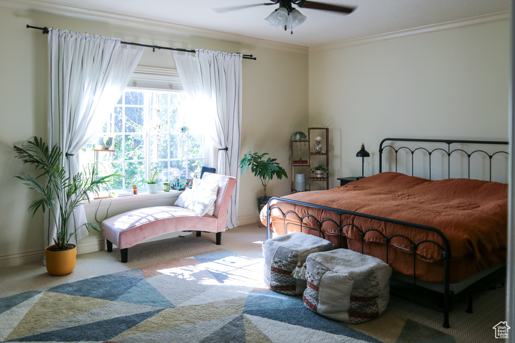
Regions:
<instances>
[{"instance_id":1,"label":"large bed with rust-orange bedding and black metal frame","mask_svg":"<svg viewBox=\"0 0 515 343\"><path fill-rule=\"evenodd\" d=\"M386 138L379 149L379 174L330 190L272 198L261 220L269 234L316 234L381 258L397 279L442 293L442 308L430 307L443 311L448 328L451 295L502 268L506 260L507 184L492 181L499 174L495 169L506 169L505 145ZM394 171L382 170L383 159ZM504 167L496 168L499 164ZM454 176L456 170L465 177ZM414 176L416 171L426 178Z\"/></svg>"}]
</instances>

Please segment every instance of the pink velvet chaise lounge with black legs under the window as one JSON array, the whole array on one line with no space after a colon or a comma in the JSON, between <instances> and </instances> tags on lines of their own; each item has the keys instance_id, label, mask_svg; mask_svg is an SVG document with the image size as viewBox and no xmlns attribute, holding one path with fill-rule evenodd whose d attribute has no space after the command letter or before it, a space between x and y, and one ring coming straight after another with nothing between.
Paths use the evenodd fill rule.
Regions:
<instances>
[{"instance_id":1,"label":"pink velvet chaise lounge with black legs under the window","mask_svg":"<svg viewBox=\"0 0 515 343\"><path fill-rule=\"evenodd\" d=\"M236 178L204 173L203 180L218 182L218 193L213 215L199 214L177 206L146 207L118 214L102 221L102 237L107 241L107 251L113 244L120 248L122 262L128 260L128 248L165 233L196 231L216 232L216 244L221 244L221 234L226 230L227 210Z\"/></svg>"}]
</instances>

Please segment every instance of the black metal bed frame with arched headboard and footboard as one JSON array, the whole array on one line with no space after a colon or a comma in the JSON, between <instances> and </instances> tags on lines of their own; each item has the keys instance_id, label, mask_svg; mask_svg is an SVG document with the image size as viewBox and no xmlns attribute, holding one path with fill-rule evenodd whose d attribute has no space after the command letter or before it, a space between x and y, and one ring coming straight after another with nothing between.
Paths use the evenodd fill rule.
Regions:
<instances>
[{"instance_id":1,"label":"black metal bed frame with arched headboard and footboard","mask_svg":"<svg viewBox=\"0 0 515 343\"><path fill-rule=\"evenodd\" d=\"M428 150L428 149L425 149L425 148L416 148L414 150L411 150L410 148L408 147L400 147L398 149L394 148L393 146L391 145L387 145L385 147L383 147L384 143L386 141L410 141L410 142L434 142L434 143L445 143L447 144L447 150L444 150L442 148L435 148L433 150ZM490 180L491 180L491 176L492 176L492 163L491 163L491 160L492 160L492 157L496 154L499 154L499 153L506 153L508 154L506 151L496 151L492 154L489 154L488 152L484 151L484 150L474 150L473 152L471 153L468 153L466 152L465 150L463 149L453 149L451 150L451 145L453 143L458 143L458 144L479 144L479 145L508 145L508 142L505 142L505 141L484 141L484 140L456 140L456 139L453 139L453 140L449 140L449 139L408 139L408 138L385 138L381 141L380 143L380 146L379 146L379 155L380 155L380 163L379 163L379 169L380 169L380 172L382 172L382 154L383 154L383 151L385 148L391 148L393 149L395 155L396 155L396 160L395 160L395 166L396 166L396 171L397 171L397 154L400 150L403 150L403 149L407 149L411 152L411 171L412 171L412 176L413 176L413 170L414 170L414 158L413 158L413 155L416 151L419 151L419 150L422 150L422 151L425 151L428 156L429 156L429 159L430 159L430 166L429 166L429 169L430 169L430 179L431 179L431 155L433 152L435 151L443 151L445 154L447 154L448 156L448 178L450 177L450 174L451 174L451 155L455 152L461 152L461 153L465 153L467 155L467 158L468 158L468 178L470 178L470 158L471 156L474 154L474 153L484 153L486 154L489 159L490 159L490 170L489 170L489 173L490 173ZM294 205L302 205L302 206L305 206L305 207L310 207L310 208L318 208L318 209L322 209L322 210L327 210L327 211L331 211L331 212L334 212L338 215L338 218L339 218L339 221L336 222L335 220L333 219L329 219L329 218L325 218L325 219L318 219L316 218L314 215L312 214L306 214L306 215L303 215L303 216L300 216L297 212L293 211L293 210L289 210L289 211L286 211L286 212L283 212L281 210L281 208L279 208L277 205L272 205L271 206L271 202L273 201L281 201L281 202L285 202L285 203L289 203L289 204L294 204ZM358 213L358 212L353 212L353 211L347 211L347 210L344 210L344 209L338 209L338 208L333 208L333 207L327 207L327 206L320 206L320 205L315 205L315 204L310 204L310 203L304 203L304 202L299 202L299 201L295 201L295 200L290 200L290 199L286 199L286 198L281 198L281 197L272 197L270 198L270 200L268 201L268 204L267 204L267 239L270 238L270 225L271 225L271 219L270 219L270 213L273 209L278 209L281 214L282 214L282 217L283 217L283 233L286 233L286 227L287 225L297 225L297 226L300 226L300 231L302 232L302 229L303 228L306 228L306 229L310 229L310 230L317 230L318 231L318 235L319 237L322 237L322 238L325 238L325 234L324 232L322 231L322 225L324 223L332 223L333 225L335 225L338 229L338 232L328 232L328 233L335 233L335 234L338 234L338 237L339 237L339 245L341 247L341 238L342 238L342 230L346 227L351 227L351 228L354 228L356 229L358 232L359 232L359 235L361 236L361 242L362 242L362 254L364 253L364 244L365 244L365 236L368 232L378 232L381 234L381 236L383 237L384 241L385 241L385 249L386 249L386 263L388 263L388 247L391 244L391 240L393 238L401 238L401 239L404 239L406 240L407 242L409 242L409 246L411 247L411 249L409 250L409 253L413 254L413 287L415 288L417 286L417 278L416 278L416 260L417 260L417 248L419 247L419 245L421 244L435 244L437 247L439 247L442 251L442 260L443 260L443 279L444 279L444 282L443 282L443 304L442 304L442 307L438 307L438 306L433 306L431 304L428 304L426 302L421 302L419 301L418 299L416 298L408 298L408 297L405 297L403 295L399 295L399 294L396 294L398 296L401 296L407 300L410 300L410 301L413 301L413 302L416 302L418 304L422 304L422 305L425 305L429 308L432 308L432 309L435 309L435 310L438 310L438 311L441 311L443 312L443 327L444 328L450 328L450 323L449 323L449 312L451 310L451 292L449 291L450 290L450 260L451 260L451 250L450 250L450 245L449 245L449 241L447 239L447 237L445 237L445 234L440 231L439 229L435 228L435 227L432 227L432 226L426 226L426 225L420 225L420 224L416 224L416 223L409 223L409 222L404 222L404 221L398 221L398 220L394 220L394 219L389 219L389 218L383 218L383 217L380 217L380 216L375 216L375 215L370 215L370 214L366 214L366 213ZM296 224L296 223L286 223L286 216L288 214L294 214L296 216L296 219L300 222L300 224ZM432 240L422 240L422 241L419 241L419 242L413 242L411 241L408 237L406 236L403 236L402 234L392 234L390 236L386 236L382 231L378 230L378 229L375 229L375 228L359 228L358 226L354 225L354 224L351 224L351 223L342 223L342 222L345 222L345 221L342 221L342 215L350 215L350 216L357 216L357 217L361 217L361 218L366 218L366 219L371 219L371 220L374 220L374 221L378 221L378 222L386 222L386 223L391 223L391 224L397 224L397 225L402 225L404 227L411 227L413 229L420 229L420 230L426 230L426 231L432 231L432 232L435 232L441 239L441 242L435 242L435 241L432 241ZM312 226L307 226L307 225L303 225L303 222L305 222L306 220L308 219L313 219L316 223L317 223L317 227L312 227ZM469 308L467 310L468 312L471 312L472 311L472 298L469 297Z\"/></svg>"}]
</instances>

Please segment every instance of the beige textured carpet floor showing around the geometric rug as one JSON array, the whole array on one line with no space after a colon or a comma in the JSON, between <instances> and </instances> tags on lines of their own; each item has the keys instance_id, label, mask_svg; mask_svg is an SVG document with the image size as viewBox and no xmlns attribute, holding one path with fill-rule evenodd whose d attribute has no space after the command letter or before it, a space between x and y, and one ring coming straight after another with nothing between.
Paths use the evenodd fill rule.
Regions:
<instances>
[{"instance_id":1,"label":"beige textured carpet floor showing around the geometric rug","mask_svg":"<svg viewBox=\"0 0 515 343\"><path fill-rule=\"evenodd\" d=\"M187 258L207 252L228 249L249 258L262 258L261 243L266 240L265 228L258 224L241 226L222 234L222 245L214 244L215 235L202 233L202 238L194 235L170 240L140 244L129 249L129 262L119 262L119 250L112 253L98 251L77 256L77 266L70 275L50 276L45 266L27 264L0 269L0 297L26 291L46 290L59 284L83 280L95 276L123 272ZM467 301L456 303L451 313L451 329L443 329L442 313L391 297L388 311L425 324L463 342L499 342L494 338L492 327L505 320L505 288L485 290L474 297L474 313L465 312Z\"/></svg>"}]
</instances>

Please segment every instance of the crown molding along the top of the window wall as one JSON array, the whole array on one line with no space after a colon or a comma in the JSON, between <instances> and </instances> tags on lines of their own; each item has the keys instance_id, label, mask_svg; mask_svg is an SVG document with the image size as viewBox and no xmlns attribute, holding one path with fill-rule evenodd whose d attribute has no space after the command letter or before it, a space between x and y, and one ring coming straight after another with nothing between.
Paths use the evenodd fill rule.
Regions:
<instances>
[{"instance_id":1,"label":"crown molding along the top of the window wall","mask_svg":"<svg viewBox=\"0 0 515 343\"><path fill-rule=\"evenodd\" d=\"M44 0L2 0L0 1L0 7L33 10L49 14L72 17L76 19L84 19L102 23L129 26L140 29L161 31L166 33L182 35L186 37L209 38L220 41L226 41L230 43L243 44L244 46L257 46L290 52L306 54L308 53L308 48L305 46L273 42L258 38L246 37L238 34L201 29L186 25L171 24L162 21L144 19L140 17L124 15L119 13L91 10L65 4L54 4L46 2ZM239 52L243 53L243 51Z\"/></svg>"}]
</instances>

